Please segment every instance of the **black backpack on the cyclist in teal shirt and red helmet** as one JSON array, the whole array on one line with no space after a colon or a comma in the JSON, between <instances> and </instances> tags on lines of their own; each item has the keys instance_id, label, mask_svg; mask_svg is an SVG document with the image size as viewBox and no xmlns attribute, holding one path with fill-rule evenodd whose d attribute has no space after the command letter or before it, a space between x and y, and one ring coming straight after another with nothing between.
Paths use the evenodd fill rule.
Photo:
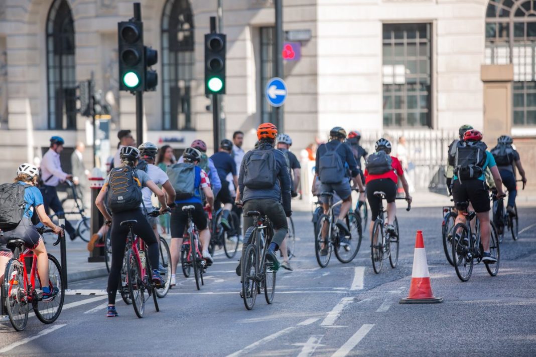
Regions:
<instances>
[{"instance_id":1,"label":"black backpack on the cyclist in teal shirt and red helmet","mask_svg":"<svg viewBox=\"0 0 536 357\"><path fill-rule=\"evenodd\" d=\"M460 181L482 176L487 158L486 148L483 142L467 145L466 142L459 141L456 144L454 173Z\"/></svg>"}]
</instances>

